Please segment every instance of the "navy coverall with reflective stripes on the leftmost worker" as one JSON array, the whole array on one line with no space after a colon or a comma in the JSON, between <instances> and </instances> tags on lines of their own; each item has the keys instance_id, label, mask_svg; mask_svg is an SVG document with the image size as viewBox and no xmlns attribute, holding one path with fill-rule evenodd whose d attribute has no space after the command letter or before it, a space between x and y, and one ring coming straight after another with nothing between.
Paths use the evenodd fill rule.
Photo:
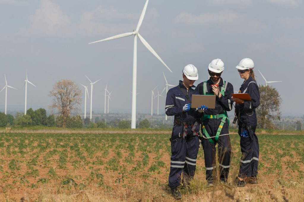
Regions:
<instances>
[{"instance_id":1,"label":"navy coverall with reflective stripes on the leftmost worker","mask_svg":"<svg viewBox=\"0 0 304 202\"><path fill-rule=\"evenodd\" d=\"M196 158L199 151L199 112L195 109L190 109L188 112L183 112L183 107L188 104L185 94L180 88L186 87L182 81L179 85L168 90L166 98L165 111L168 116L174 116L173 129L171 134L171 163L169 174L169 186L177 187L181 183L181 173L183 173L183 180L190 180L193 178L196 167ZM194 86L192 86L194 87ZM188 89L188 96L197 95L198 93L191 87ZM191 102L191 101L190 101ZM190 103L189 102L189 103ZM177 120L178 123L176 123ZM198 122L194 132L192 126ZM182 136L184 133L184 124L187 123L186 137Z\"/></svg>"}]
</instances>

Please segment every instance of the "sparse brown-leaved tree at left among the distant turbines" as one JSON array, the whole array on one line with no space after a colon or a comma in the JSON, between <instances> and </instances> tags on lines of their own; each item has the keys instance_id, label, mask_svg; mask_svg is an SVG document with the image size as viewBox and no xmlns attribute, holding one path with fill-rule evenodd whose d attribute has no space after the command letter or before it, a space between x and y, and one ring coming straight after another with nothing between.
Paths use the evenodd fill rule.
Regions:
<instances>
[{"instance_id":1,"label":"sparse brown-leaved tree at left among the distant turbines","mask_svg":"<svg viewBox=\"0 0 304 202\"><path fill-rule=\"evenodd\" d=\"M58 110L58 113L62 116L64 128L71 112L79 110L81 95L82 93L78 85L68 79L56 82L53 90L50 91L49 96L53 97L53 103L49 108L51 110Z\"/></svg>"}]
</instances>

